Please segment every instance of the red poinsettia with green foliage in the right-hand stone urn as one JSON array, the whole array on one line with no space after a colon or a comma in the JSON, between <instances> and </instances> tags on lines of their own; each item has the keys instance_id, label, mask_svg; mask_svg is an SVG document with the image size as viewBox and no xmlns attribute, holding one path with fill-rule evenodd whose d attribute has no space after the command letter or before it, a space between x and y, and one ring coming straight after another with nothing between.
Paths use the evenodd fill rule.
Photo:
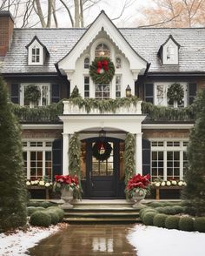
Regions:
<instances>
[{"instance_id":1,"label":"red poinsettia with green foliage in the right-hand stone urn","mask_svg":"<svg viewBox=\"0 0 205 256\"><path fill-rule=\"evenodd\" d=\"M128 184L126 185L125 192L129 194L136 191L148 192L150 187L150 175L141 175L136 174L131 179L129 179Z\"/></svg>"}]
</instances>

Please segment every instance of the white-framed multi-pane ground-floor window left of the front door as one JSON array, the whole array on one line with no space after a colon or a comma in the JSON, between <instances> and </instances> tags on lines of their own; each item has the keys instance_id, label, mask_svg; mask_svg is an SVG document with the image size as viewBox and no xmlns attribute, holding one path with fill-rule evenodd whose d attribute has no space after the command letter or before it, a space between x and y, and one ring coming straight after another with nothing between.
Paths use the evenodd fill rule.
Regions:
<instances>
[{"instance_id":1,"label":"white-framed multi-pane ground-floor window left of the front door","mask_svg":"<svg viewBox=\"0 0 205 256\"><path fill-rule=\"evenodd\" d=\"M27 179L52 179L52 142L23 142L24 171Z\"/></svg>"}]
</instances>

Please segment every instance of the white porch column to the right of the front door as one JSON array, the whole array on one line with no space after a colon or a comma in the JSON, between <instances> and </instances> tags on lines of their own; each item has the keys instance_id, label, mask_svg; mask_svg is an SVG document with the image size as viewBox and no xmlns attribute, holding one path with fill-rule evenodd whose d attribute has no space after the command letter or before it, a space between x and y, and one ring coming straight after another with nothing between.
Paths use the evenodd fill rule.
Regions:
<instances>
[{"instance_id":1,"label":"white porch column to the right of the front door","mask_svg":"<svg viewBox=\"0 0 205 256\"><path fill-rule=\"evenodd\" d=\"M136 133L136 172L142 174L142 132Z\"/></svg>"}]
</instances>

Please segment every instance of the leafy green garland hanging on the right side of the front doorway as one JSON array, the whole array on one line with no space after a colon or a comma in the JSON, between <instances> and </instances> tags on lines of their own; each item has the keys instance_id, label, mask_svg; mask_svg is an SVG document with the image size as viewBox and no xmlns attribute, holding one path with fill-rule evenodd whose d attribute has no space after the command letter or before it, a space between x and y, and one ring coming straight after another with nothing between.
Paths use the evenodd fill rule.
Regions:
<instances>
[{"instance_id":1,"label":"leafy green garland hanging on the right side of the front doorway","mask_svg":"<svg viewBox=\"0 0 205 256\"><path fill-rule=\"evenodd\" d=\"M128 180L136 173L136 138L134 134L127 133L125 138L125 179L127 184Z\"/></svg>"}]
</instances>

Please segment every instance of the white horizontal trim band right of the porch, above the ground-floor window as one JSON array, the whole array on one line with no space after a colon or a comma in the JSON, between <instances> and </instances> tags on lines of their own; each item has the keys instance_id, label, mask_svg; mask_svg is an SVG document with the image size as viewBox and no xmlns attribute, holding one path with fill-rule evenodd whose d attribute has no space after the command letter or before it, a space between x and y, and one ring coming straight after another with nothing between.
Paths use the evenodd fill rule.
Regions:
<instances>
[{"instance_id":1,"label":"white horizontal trim band right of the porch, above the ground-floor window","mask_svg":"<svg viewBox=\"0 0 205 256\"><path fill-rule=\"evenodd\" d=\"M195 124L142 124L142 129L191 129Z\"/></svg>"}]
</instances>

